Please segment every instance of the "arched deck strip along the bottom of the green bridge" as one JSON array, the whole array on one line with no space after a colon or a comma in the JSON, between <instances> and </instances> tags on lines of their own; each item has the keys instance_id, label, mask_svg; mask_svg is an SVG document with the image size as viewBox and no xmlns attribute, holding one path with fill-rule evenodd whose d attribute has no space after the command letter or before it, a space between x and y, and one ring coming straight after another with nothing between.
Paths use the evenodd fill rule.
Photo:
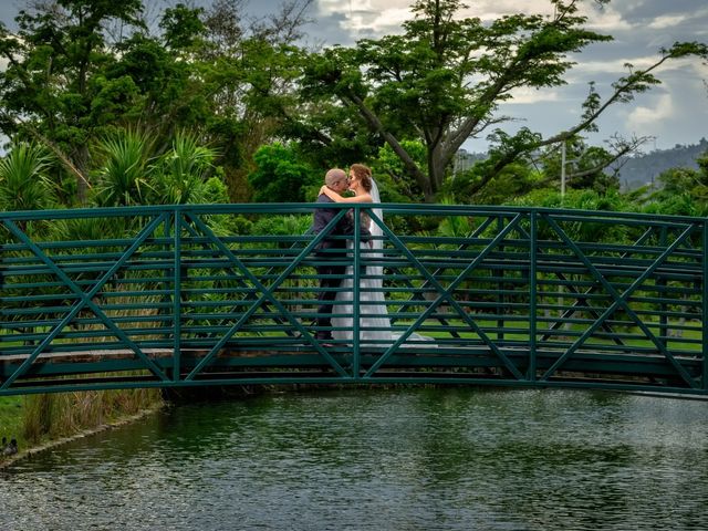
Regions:
<instances>
[{"instance_id":1,"label":"arched deck strip along the bottom of the green bridge","mask_svg":"<svg viewBox=\"0 0 708 531\"><path fill-rule=\"evenodd\" d=\"M160 382L144 369L144 362L128 350L95 350L77 352L43 353L34 361L32 371L15 383L22 388L74 388L118 383L140 386L191 386L257 383L468 383L528 386L572 385L626 389L656 389L680 392L681 378L674 367L657 354L623 354L579 351L573 360L551 378L540 379L555 363L563 351L541 352L535 357L535 378L529 374L529 353L522 348L504 348L504 355L527 376L523 382L510 377L504 364L489 348L440 347L430 350L407 347L391 356L384 368L366 377L366 371L381 358L382 348L361 348L358 372L352 365L354 354L351 346L329 348L332 358L344 369L337 374L335 367L311 346L293 346L288 351L256 348L222 348L211 361L209 369L194 379L185 379L208 355L206 350L180 352L178 381ZM175 353L167 348L147 350L155 364L169 372L175 366ZM0 377L7 377L29 358L28 355L3 356ZM700 356L679 356L686 371L698 376L702 369ZM694 392L695 393L695 392Z\"/></svg>"}]
</instances>

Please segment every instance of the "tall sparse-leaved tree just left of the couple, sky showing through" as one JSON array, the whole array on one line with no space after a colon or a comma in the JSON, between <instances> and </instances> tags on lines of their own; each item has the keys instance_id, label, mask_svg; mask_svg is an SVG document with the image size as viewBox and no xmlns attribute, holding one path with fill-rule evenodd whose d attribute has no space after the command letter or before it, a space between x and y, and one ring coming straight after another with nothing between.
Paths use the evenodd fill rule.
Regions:
<instances>
[{"instance_id":1,"label":"tall sparse-leaved tree just left of the couple, sky showing through","mask_svg":"<svg viewBox=\"0 0 708 531\"><path fill-rule=\"evenodd\" d=\"M258 20L244 17L246 0L216 0L205 15L202 74L214 113L206 123L217 160L226 170L231 198L251 198L247 181L253 157L282 137L284 108L293 105L301 51L293 43L314 0L287 0L280 11Z\"/></svg>"}]
</instances>

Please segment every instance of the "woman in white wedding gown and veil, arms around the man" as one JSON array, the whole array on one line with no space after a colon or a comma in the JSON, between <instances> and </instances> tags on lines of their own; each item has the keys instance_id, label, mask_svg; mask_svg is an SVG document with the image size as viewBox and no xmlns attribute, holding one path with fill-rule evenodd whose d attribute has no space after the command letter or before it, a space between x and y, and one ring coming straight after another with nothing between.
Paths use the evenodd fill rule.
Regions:
<instances>
[{"instance_id":1,"label":"woman in white wedding gown and veil, arms around the man","mask_svg":"<svg viewBox=\"0 0 708 531\"><path fill-rule=\"evenodd\" d=\"M320 189L320 194L326 194L330 199L336 202L381 204L378 187L372 179L372 170L363 164L353 164L350 168L348 188L355 194L354 197L342 197L326 186ZM371 211L383 222L384 216L381 208L372 208ZM362 258L379 260L383 257L383 230L377 222L372 221L365 211L361 211L361 217L362 229L368 229L372 236L371 241L361 242ZM352 240L350 240L347 247L351 249L352 246ZM388 317L383 290L383 269L381 266L369 266L366 268L366 274L360 278L360 343L362 346L391 345L400 337L400 334L393 333ZM333 331L335 340L351 341L353 337L352 273L353 267L347 266L345 278L341 284L343 290L337 292L334 300L332 313L343 315L332 319L333 327L342 329ZM412 342L416 340L431 341L431 337L412 334L406 339L404 346L412 346Z\"/></svg>"}]
</instances>

